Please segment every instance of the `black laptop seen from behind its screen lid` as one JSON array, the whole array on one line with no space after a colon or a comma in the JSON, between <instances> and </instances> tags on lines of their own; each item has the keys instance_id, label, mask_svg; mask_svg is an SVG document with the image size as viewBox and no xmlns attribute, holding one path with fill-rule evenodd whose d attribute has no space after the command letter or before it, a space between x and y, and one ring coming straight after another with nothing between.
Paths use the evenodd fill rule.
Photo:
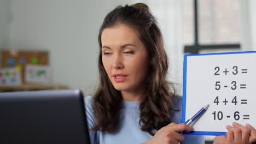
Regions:
<instances>
[{"instance_id":1,"label":"black laptop seen from behind its screen lid","mask_svg":"<svg viewBox=\"0 0 256 144\"><path fill-rule=\"evenodd\" d=\"M82 92L0 93L0 143L90 144Z\"/></svg>"}]
</instances>

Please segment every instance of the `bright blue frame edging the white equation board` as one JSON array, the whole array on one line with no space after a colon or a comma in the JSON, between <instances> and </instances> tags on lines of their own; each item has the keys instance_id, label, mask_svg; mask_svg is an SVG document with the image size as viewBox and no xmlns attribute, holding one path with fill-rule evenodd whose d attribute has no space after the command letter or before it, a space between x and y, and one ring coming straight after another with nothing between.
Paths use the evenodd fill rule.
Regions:
<instances>
[{"instance_id":1,"label":"bright blue frame edging the white equation board","mask_svg":"<svg viewBox=\"0 0 256 144\"><path fill-rule=\"evenodd\" d=\"M220 52L220 53L202 53L202 54L191 54L191 55L184 55L184 62L183 62L183 97L182 97L182 123L185 123L185 110L186 110L186 95L187 95L187 57L191 56L207 56L207 55L234 55L234 54L241 54L241 53L256 53L256 51L239 51L239 52ZM190 131L190 135L226 135L226 132L219 132L219 131Z\"/></svg>"}]
</instances>

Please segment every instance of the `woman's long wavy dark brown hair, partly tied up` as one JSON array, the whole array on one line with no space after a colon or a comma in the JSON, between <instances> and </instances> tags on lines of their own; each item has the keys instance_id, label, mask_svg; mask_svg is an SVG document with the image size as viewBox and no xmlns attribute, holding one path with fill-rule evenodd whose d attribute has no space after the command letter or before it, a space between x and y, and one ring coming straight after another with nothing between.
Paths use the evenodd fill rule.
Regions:
<instances>
[{"instance_id":1,"label":"woman's long wavy dark brown hair, partly tied up","mask_svg":"<svg viewBox=\"0 0 256 144\"><path fill-rule=\"evenodd\" d=\"M120 91L114 88L102 63L101 34L103 29L117 25L126 25L135 29L139 39L149 53L149 72L146 97L141 101L139 109L141 130L154 135L153 130L159 130L171 122L173 94L170 91L166 75L168 59L164 49L162 34L156 20L143 3L118 6L105 17L98 34L100 52L98 55L98 69L100 86L92 102L96 123L92 130L113 132L119 123L123 99Z\"/></svg>"}]
</instances>

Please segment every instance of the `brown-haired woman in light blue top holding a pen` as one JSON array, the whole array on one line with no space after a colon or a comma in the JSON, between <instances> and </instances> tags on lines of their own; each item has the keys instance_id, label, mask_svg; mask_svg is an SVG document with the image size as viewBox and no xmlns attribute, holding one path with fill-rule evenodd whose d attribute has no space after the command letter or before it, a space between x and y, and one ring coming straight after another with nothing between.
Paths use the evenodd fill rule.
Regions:
<instances>
[{"instance_id":1,"label":"brown-haired woman in light blue top holding a pen","mask_svg":"<svg viewBox=\"0 0 256 144\"><path fill-rule=\"evenodd\" d=\"M182 100L168 87L162 35L147 5L112 10L98 43L100 87L85 99L92 143L204 143L179 134L191 128L181 124Z\"/></svg>"}]
</instances>

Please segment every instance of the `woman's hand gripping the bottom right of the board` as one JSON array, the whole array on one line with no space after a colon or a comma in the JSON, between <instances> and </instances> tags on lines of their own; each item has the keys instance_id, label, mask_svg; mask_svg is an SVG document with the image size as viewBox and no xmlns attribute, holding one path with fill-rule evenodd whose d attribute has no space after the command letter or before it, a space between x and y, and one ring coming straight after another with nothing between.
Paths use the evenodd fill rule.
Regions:
<instances>
[{"instance_id":1,"label":"woman's hand gripping the bottom right of the board","mask_svg":"<svg viewBox=\"0 0 256 144\"><path fill-rule=\"evenodd\" d=\"M252 143L255 141L256 132L255 129L247 124L247 127L244 127L241 124L233 123L233 127L230 125L226 126L228 131L225 136L216 136L214 139L214 144L229 144L229 143Z\"/></svg>"}]
</instances>

